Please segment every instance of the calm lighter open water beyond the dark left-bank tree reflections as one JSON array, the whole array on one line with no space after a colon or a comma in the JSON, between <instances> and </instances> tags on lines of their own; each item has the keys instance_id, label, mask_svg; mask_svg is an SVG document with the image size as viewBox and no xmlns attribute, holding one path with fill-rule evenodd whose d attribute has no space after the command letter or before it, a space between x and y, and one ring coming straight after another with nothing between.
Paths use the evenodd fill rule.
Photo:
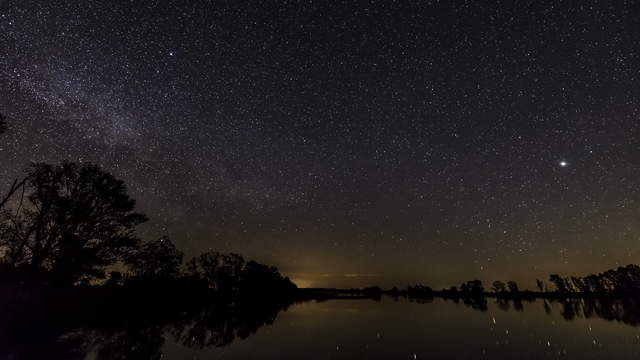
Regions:
<instances>
[{"instance_id":1,"label":"calm lighter open water beyond the dark left-bank tree reflections","mask_svg":"<svg viewBox=\"0 0 640 360\"><path fill-rule=\"evenodd\" d=\"M246 339L193 348L165 333L167 359L637 359L635 309L537 300L484 311L435 299L292 305ZM508 309L507 309L508 306ZM519 309L516 309L519 308ZM587 313L588 318L584 317ZM572 318L567 320L566 318ZM608 317L609 320L602 317ZM618 318L618 319L616 319Z\"/></svg>"}]
</instances>

